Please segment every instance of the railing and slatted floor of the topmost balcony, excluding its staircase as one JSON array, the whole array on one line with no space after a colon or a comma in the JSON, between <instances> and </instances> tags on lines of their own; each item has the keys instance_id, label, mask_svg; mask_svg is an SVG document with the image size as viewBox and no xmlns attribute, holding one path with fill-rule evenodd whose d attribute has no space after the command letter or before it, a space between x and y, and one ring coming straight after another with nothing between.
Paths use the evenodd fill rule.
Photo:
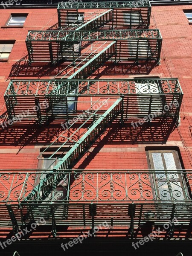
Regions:
<instances>
[{"instance_id":1,"label":"railing and slatted floor of the topmost balcony, excluding its staircase","mask_svg":"<svg viewBox=\"0 0 192 256\"><path fill-rule=\"evenodd\" d=\"M81 13L85 9L110 9L112 15L105 15L106 27L122 29L127 26L129 29L148 29L151 16L151 4L149 1L125 1L125 2L78 2L58 4L58 23L59 29L67 26L67 15L70 12ZM126 12L126 14L125 14ZM126 21L127 18L127 21ZM125 20L123 24L122 20ZM86 21L85 21L86 22ZM102 23L102 26L103 24ZM100 25L100 23L99 23ZM104 26L105 29L105 26Z\"/></svg>"}]
</instances>

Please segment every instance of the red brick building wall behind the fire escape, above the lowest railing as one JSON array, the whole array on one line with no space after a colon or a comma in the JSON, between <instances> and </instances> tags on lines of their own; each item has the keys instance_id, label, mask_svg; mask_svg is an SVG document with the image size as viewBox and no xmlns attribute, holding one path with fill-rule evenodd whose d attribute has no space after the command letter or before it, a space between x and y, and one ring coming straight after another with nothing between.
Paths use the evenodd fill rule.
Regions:
<instances>
[{"instance_id":1,"label":"red brick building wall behind the fire escape, above the lowest railing","mask_svg":"<svg viewBox=\"0 0 192 256\"><path fill-rule=\"evenodd\" d=\"M186 169L192 166L192 26L183 13L191 6L155 6L152 7L150 28L158 28L163 37L163 50L160 65L152 70L143 66L104 65L91 78L133 78L134 76L176 77L183 89L184 97L180 111L180 125L168 131L152 125L134 129L130 125L112 124L105 134L95 143L91 152L77 163L80 169L148 169L145 146L178 146ZM28 13L23 28L0 28L0 40L16 40L8 62L0 62L0 109L6 111L3 93L10 78L39 79L52 78L61 70L58 65L28 67L18 62L27 55L25 39L28 30L48 29L58 22L56 9L15 9L0 10L0 26L5 26L10 13ZM62 64L63 65L63 64ZM61 66L62 66L61 65ZM19 68L20 67L20 68ZM119 71L120 70L120 71ZM17 75L17 76L16 76ZM79 105L81 109L81 104ZM3 120L3 119L2 119ZM1 169L37 168L38 151L42 144L52 142L62 132L60 124L41 127L35 125L12 125L0 131ZM1 149L9 148L1 153ZM30 151L34 148L34 151ZM20 149L24 149L23 152ZM21 153L22 152L22 153Z\"/></svg>"}]
</instances>

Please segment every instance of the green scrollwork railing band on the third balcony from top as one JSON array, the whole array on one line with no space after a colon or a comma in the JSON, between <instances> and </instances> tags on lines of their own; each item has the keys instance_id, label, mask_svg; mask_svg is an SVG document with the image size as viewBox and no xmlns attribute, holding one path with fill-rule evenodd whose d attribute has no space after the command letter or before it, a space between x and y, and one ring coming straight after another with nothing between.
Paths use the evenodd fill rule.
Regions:
<instances>
[{"instance_id":1,"label":"green scrollwork railing band on the third balcony from top","mask_svg":"<svg viewBox=\"0 0 192 256\"><path fill-rule=\"evenodd\" d=\"M5 96L183 95L178 79L12 80Z\"/></svg>"}]
</instances>

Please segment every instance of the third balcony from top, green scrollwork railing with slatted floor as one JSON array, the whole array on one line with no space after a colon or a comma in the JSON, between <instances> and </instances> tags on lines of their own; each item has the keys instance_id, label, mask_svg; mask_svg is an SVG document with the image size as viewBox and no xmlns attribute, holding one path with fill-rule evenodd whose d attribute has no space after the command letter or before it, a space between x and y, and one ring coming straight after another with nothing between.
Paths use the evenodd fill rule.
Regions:
<instances>
[{"instance_id":1,"label":"third balcony from top, green scrollwork railing with slatted floor","mask_svg":"<svg viewBox=\"0 0 192 256\"><path fill-rule=\"evenodd\" d=\"M4 95L9 118L33 109L37 104L41 120L54 117L55 105L66 102L65 113L61 111L58 118L64 120L72 114L67 111L70 97L111 97L124 96L124 118L147 116L160 112L161 117L178 119L183 92L178 79L54 79L54 80L11 80ZM75 101L75 100L74 100ZM46 102L46 107L44 103ZM53 102L53 103L52 103ZM175 102L175 104L173 104ZM170 111L165 106L170 105ZM74 110L75 111L75 110ZM74 112L73 111L73 115ZM29 111L28 111L29 112ZM30 112L29 112L30 113ZM41 114L41 115L40 115ZM38 119L37 113L27 118ZM126 116L125 116L126 115ZM67 117L68 116L68 117Z\"/></svg>"}]
</instances>

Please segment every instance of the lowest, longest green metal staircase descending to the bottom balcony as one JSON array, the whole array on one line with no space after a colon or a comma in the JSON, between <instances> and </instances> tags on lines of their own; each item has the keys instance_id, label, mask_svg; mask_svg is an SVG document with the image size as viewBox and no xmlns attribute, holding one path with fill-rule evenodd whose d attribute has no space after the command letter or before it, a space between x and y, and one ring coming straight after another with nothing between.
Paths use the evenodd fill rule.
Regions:
<instances>
[{"instance_id":1,"label":"lowest, longest green metal staircase descending to the bottom balcony","mask_svg":"<svg viewBox=\"0 0 192 256\"><path fill-rule=\"evenodd\" d=\"M106 100L105 102L107 101L108 100ZM91 145L95 143L97 138L99 138L99 136L105 131L105 129L110 125L110 123L113 122L113 120L116 119L120 114L122 119L123 97L119 97L118 99L116 99L116 101L111 105L111 107L108 108L108 110L105 111L103 114L99 115L99 111L95 111L95 113L91 113L89 119L93 118L93 123L87 128L87 131L83 134L83 136L78 141L74 141L71 138L65 137L67 141L72 141L73 143L75 142L74 145L64 155L64 157L62 157L58 161L58 163L53 168L53 171L50 171L50 173L41 177L38 185L34 189L32 189L30 194L23 200L23 203L24 201L34 201L34 200L44 202L44 200L46 200L46 198L48 198L49 195L51 195L52 190L55 189L55 187L61 182L61 180L63 180L62 174L61 174L61 177L60 175L57 175L56 177L55 175L53 175L53 173L59 169L62 169L62 170L72 169L73 166L76 164L76 162L80 160L81 157L91 147ZM73 135L74 134L72 134L71 137L73 137ZM64 137L64 136L60 135L60 137ZM57 151L58 150L59 148L57 149ZM46 151L46 149L44 151ZM55 151L55 153L57 153L57 151ZM53 153L52 156L54 156L55 153ZM66 175L66 180L67 178L68 176ZM41 193L39 191L41 191Z\"/></svg>"}]
</instances>

